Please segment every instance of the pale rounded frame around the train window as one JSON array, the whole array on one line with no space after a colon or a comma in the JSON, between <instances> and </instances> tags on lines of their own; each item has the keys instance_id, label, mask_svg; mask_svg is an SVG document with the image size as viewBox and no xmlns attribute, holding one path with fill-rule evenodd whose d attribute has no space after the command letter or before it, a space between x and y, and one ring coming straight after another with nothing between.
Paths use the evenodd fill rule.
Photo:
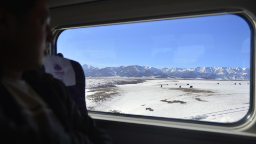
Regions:
<instances>
[{"instance_id":1,"label":"pale rounded frame around the train window","mask_svg":"<svg viewBox=\"0 0 256 144\"><path fill-rule=\"evenodd\" d=\"M205 121L194 121L188 119L177 119L177 118L165 118L165 117L154 117L154 116L142 116L142 115L131 115L131 114L116 114L108 113L103 111L91 111L89 110L89 115L93 118L103 119L108 121L118 121L118 122L131 122L137 124L145 124L146 121L150 125L159 125L157 122L161 122L162 126L171 126L175 125L201 125L202 127L206 126L217 126L221 129L241 129L250 124L252 119L255 119L255 26L256 22L254 17L242 10L217 10L217 11L207 11L207 12L196 12L196 13L183 13L177 15L158 15L157 17L143 17L143 18L134 18L134 19L124 19L124 20L114 20L114 21L101 21L101 22L92 22L92 23L83 23L78 25L69 25L57 27L53 30L53 43L51 53L57 55L57 41L60 34L66 29L73 28L86 28L86 27L96 27L96 26L108 26L108 25L117 25L122 23L134 23L134 22L146 22L146 21L156 21L156 20L171 20L171 19L181 19L181 18L193 18L193 17L204 17L210 15L221 15L221 14L236 14L239 17L243 18L249 25L251 30L251 53L250 53L250 107L247 114L237 122L234 123L215 123L215 122L205 122ZM253 41L254 40L254 41ZM150 122L151 121L151 122ZM147 122L146 122L147 123ZM169 124L168 124L169 123ZM161 124L160 124L161 125Z\"/></svg>"}]
</instances>

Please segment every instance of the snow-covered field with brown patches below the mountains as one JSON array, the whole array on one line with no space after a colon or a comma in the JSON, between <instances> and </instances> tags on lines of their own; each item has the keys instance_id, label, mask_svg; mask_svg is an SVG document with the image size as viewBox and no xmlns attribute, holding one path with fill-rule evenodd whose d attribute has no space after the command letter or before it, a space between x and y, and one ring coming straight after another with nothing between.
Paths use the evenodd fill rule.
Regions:
<instances>
[{"instance_id":1,"label":"snow-covered field with brown patches below the mountains","mask_svg":"<svg viewBox=\"0 0 256 144\"><path fill-rule=\"evenodd\" d=\"M250 81L148 79L123 85L115 81L86 79L89 110L231 123L242 119L249 109ZM115 87L92 89L110 82Z\"/></svg>"}]
</instances>

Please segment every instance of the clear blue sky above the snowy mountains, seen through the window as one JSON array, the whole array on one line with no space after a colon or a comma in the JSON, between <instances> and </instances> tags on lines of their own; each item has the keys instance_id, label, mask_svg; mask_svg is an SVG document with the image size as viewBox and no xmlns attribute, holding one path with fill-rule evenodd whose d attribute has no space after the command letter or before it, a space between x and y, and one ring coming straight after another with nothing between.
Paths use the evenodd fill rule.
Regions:
<instances>
[{"instance_id":1,"label":"clear blue sky above the snowy mountains, seen through the window","mask_svg":"<svg viewBox=\"0 0 256 144\"><path fill-rule=\"evenodd\" d=\"M93 67L250 67L250 27L234 14L68 29L57 52Z\"/></svg>"}]
</instances>

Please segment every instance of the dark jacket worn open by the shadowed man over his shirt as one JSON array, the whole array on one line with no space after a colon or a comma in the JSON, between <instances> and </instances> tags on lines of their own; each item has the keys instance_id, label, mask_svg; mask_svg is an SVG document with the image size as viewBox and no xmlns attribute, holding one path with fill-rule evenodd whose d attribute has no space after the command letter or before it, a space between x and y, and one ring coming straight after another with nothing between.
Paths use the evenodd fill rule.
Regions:
<instances>
[{"instance_id":1,"label":"dark jacket worn open by the shadowed man over his shirt","mask_svg":"<svg viewBox=\"0 0 256 144\"><path fill-rule=\"evenodd\" d=\"M7 143L111 143L108 134L95 126L92 118L79 113L65 85L39 70L26 71L23 79L53 110L65 132L35 132L23 121L18 104L0 84L1 141Z\"/></svg>"}]
</instances>

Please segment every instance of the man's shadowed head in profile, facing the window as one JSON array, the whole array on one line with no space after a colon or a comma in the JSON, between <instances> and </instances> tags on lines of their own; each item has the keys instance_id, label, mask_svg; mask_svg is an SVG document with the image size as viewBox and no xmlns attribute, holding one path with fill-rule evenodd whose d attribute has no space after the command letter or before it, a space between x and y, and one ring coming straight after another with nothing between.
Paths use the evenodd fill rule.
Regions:
<instances>
[{"instance_id":1,"label":"man's shadowed head in profile, facing the window","mask_svg":"<svg viewBox=\"0 0 256 144\"><path fill-rule=\"evenodd\" d=\"M46 0L0 2L0 51L4 68L23 71L39 67L52 41Z\"/></svg>"}]
</instances>

